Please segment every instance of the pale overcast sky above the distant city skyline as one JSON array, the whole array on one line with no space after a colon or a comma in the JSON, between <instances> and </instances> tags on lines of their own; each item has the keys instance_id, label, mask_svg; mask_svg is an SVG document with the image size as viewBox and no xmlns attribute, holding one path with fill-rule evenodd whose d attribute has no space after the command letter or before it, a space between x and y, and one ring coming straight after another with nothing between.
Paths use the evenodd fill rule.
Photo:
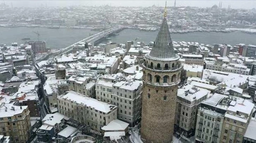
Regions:
<instances>
[{"instance_id":1,"label":"pale overcast sky above the distant city skyline","mask_svg":"<svg viewBox=\"0 0 256 143\"><path fill-rule=\"evenodd\" d=\"M213 5L219 5L220 0L176 0L176 6L196 6L196 7L212 7ZM40 6L164 6L165 0L0 0L0 3L13 7L40 7ZM167 6L173 6L174 0L167 0ZM244 8L252 9L256 8L256 0L222 0L222 8L227 8L231 5L231 8Z\"/></svg>"}]
</instances>

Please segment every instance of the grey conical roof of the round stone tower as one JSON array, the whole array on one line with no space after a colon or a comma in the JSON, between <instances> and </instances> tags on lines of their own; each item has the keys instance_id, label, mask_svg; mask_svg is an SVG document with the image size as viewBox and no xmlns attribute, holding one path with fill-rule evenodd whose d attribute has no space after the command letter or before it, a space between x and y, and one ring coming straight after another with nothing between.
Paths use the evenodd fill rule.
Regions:
<instances>
[{"instance_id":1,"label":"grey conical roof of the round stone tower","mask_svg":"<svg viewBox=\"0 0 256 143\"><path fill-rule=\"evenodd\" d=\"M153 57L154 59L170 59L177 57L173 49L172 40L165 17L163 18L163 22L149 56Z\"/></svg>"}]
</instances>

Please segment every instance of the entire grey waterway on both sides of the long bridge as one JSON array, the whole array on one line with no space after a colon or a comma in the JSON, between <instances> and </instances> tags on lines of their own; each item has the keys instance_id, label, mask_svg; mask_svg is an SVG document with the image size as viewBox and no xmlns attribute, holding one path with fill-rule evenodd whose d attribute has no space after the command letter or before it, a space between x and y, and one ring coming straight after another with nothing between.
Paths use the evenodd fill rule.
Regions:
<instances>
[{"instance_id":1,"label":"entire grey waterway on both sides of the long bridge","mask_svg":"<svg viewBox=\"0 0 256 143\"><path fill-rule=\"evenodd\" d=\"M98 31L91 31L88 29L49 29L49 28L28 28L28 27L15 27L15 28L4 28L0 27L0 43L5 43L6 45L11 45L12 42L18 42L22 44L25 41L21 40L24 37L29 37L31 40L37 41L37 34L34 32L39 32L39 40L46 41L48 48L65 48L79 40L88 37L90 34L98 33ZM154 41L157 36L156 32L146 32L136 29L124 29L119 32L119 35L111 36L110 40L103 40L100 43L116 42L124 43L127 41L133 41L137 37L137 41L143 41L149 43ZM232 46L238 43L252 44L256 45L256 34L247 34L242 32L232 32L232 33L217 33L217 32L194 32L171 34L172 41L185 41L185 42L199 42L204 44L213 45L214 43L226 43Z\"/></svg>"}]
</instances>

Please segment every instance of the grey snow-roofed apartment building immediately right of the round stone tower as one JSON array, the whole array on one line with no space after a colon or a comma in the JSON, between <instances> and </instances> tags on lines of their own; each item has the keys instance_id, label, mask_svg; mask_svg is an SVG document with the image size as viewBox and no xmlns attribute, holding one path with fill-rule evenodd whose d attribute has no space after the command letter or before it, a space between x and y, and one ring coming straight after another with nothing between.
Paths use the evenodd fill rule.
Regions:
<instances>
[{"instance_id":1,"label":"grey snow-roofed apartment building immediately right of the round stone tower","mask_svg":"<svg viewBox=\"0 0 256 143\"><path fill-rule=\"evenodd\" d=\"M189 84L178 89L175 114L175 126L179 134L191 137L195 134L197 108L207 99L211 91Z\"/></svg>"}]
</instances>

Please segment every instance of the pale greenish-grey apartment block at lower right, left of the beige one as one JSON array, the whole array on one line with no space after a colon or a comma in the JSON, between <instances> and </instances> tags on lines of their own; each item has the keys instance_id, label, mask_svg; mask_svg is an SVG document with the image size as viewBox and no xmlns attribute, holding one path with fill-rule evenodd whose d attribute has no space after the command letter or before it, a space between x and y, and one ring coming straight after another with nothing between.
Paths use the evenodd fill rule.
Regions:
<instances>
[{"instance_id":1,"label":"pale greenish-grey apartment block at lower right, left of the beige one","mask_svg":"<svg viewBox=\"0 0 256 143\"><path fill-rule=\"evenodd\" d=\"M221 129L227 109L228 96L214 94L198 109L195 143L221 143Z\"/></svg>"}]
</instances>

